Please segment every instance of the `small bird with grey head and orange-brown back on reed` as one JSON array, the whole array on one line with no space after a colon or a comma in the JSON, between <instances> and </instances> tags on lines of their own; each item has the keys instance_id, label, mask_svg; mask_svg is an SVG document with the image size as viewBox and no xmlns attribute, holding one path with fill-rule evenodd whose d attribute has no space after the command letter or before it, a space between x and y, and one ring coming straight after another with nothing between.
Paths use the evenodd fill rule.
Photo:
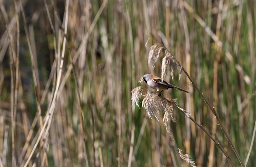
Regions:
<instances>
[{"instance_id":1,"label":"small bird with grey head and orange-brown back on reed","mask_svg":"<svg viewBox=\"0 0 256 167\"><path fill-rule=\"evenodd\" d=\"M171 83L168 83L166 81L162 81L162 78L159 78L155 75L151 75L151 74L145 74L143 75L143 77L141 78L143 79L150 88L153 88L157 91L154 91L154 92L159 92L161 90L161 92L163 90L167 90L169 88L175 88L177 90L180 90L182 92L186 92L186 93L189 93L188 91L182 89L182 88L179 88L177 86L174 86L172 85ZM160 97L161 96L161 92L158 94L158 96Z\"/></svg>"}]
</instances>

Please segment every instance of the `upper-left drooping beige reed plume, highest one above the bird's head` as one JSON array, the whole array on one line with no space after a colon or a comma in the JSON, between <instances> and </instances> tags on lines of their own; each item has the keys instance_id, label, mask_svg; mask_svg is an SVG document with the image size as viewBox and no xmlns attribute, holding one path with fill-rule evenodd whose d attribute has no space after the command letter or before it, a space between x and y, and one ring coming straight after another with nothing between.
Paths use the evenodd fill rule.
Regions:
<instances>
[{"instance_id":1,"label":"upper-left drooping beige reed plume, highest one above the bird's head","mask_svg":"<svg viewBox=\"0 0 256 167\"><path fill-rule=\"evenodd\" d=\"M164 49L164 47L159 43L156 43L150 47L148 54L148 66L150 66L150 63L152 63L152 69L155 68L155 63L157 62L162 49Z\"/></svg>"}]
</instances>

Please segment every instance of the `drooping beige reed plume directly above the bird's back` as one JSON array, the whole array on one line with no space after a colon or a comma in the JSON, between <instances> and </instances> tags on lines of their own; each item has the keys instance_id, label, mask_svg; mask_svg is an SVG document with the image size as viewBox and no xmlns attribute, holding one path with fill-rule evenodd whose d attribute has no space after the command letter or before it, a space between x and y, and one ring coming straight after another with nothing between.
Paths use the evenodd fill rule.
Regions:
<instances>
[{"instance_id":1,"label":"drooping beige reed plume directly above the bird's back","mask_svg":"<svg viewBox=\"0 0 256 167\"><path fill-rule=\"evenodd\" d=\"M180 69L180 75L179 75L179 80L182 74L182 66L180 65L180 63L177 61L176 57L173 56L170 52L168 52L167 50L165 50L165 56L162 60L162 80L164 79L164 77L166 76L166 69L168 67L168 65L171 67L171 77L173 79L173 73L174 71L179 68Z\"/></svg>"}]
</instances>

